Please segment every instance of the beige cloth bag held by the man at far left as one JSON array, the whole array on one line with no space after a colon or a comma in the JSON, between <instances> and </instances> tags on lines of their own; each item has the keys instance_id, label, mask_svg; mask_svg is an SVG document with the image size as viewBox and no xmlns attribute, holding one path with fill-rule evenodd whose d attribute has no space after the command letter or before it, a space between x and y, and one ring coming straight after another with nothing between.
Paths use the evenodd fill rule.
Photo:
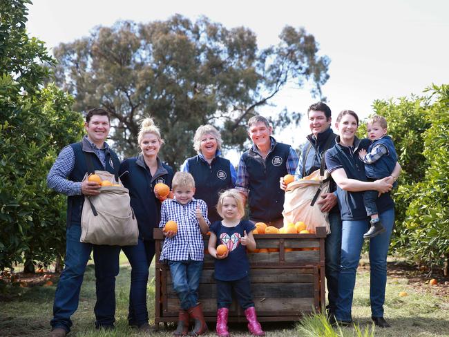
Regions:
<instances>
[{"instance_id":1,"label":"beige cloth bag held by the man at far left","mask_svg":"<svg viewBox=\"0 0 449 337\"><path fill-rule=\"evenodd\" d=\"M95 171L102 180L116 184L108 171ZM87 180L87 174L84 180ZM83 181L84 181L83 180ZM120 185L122 184L118 182ZM129 191L123 186L102 186L99 195L84 198L81 216L81 242L132 246L137 244L139 229Z\"/></svg>"}]
</instances>

